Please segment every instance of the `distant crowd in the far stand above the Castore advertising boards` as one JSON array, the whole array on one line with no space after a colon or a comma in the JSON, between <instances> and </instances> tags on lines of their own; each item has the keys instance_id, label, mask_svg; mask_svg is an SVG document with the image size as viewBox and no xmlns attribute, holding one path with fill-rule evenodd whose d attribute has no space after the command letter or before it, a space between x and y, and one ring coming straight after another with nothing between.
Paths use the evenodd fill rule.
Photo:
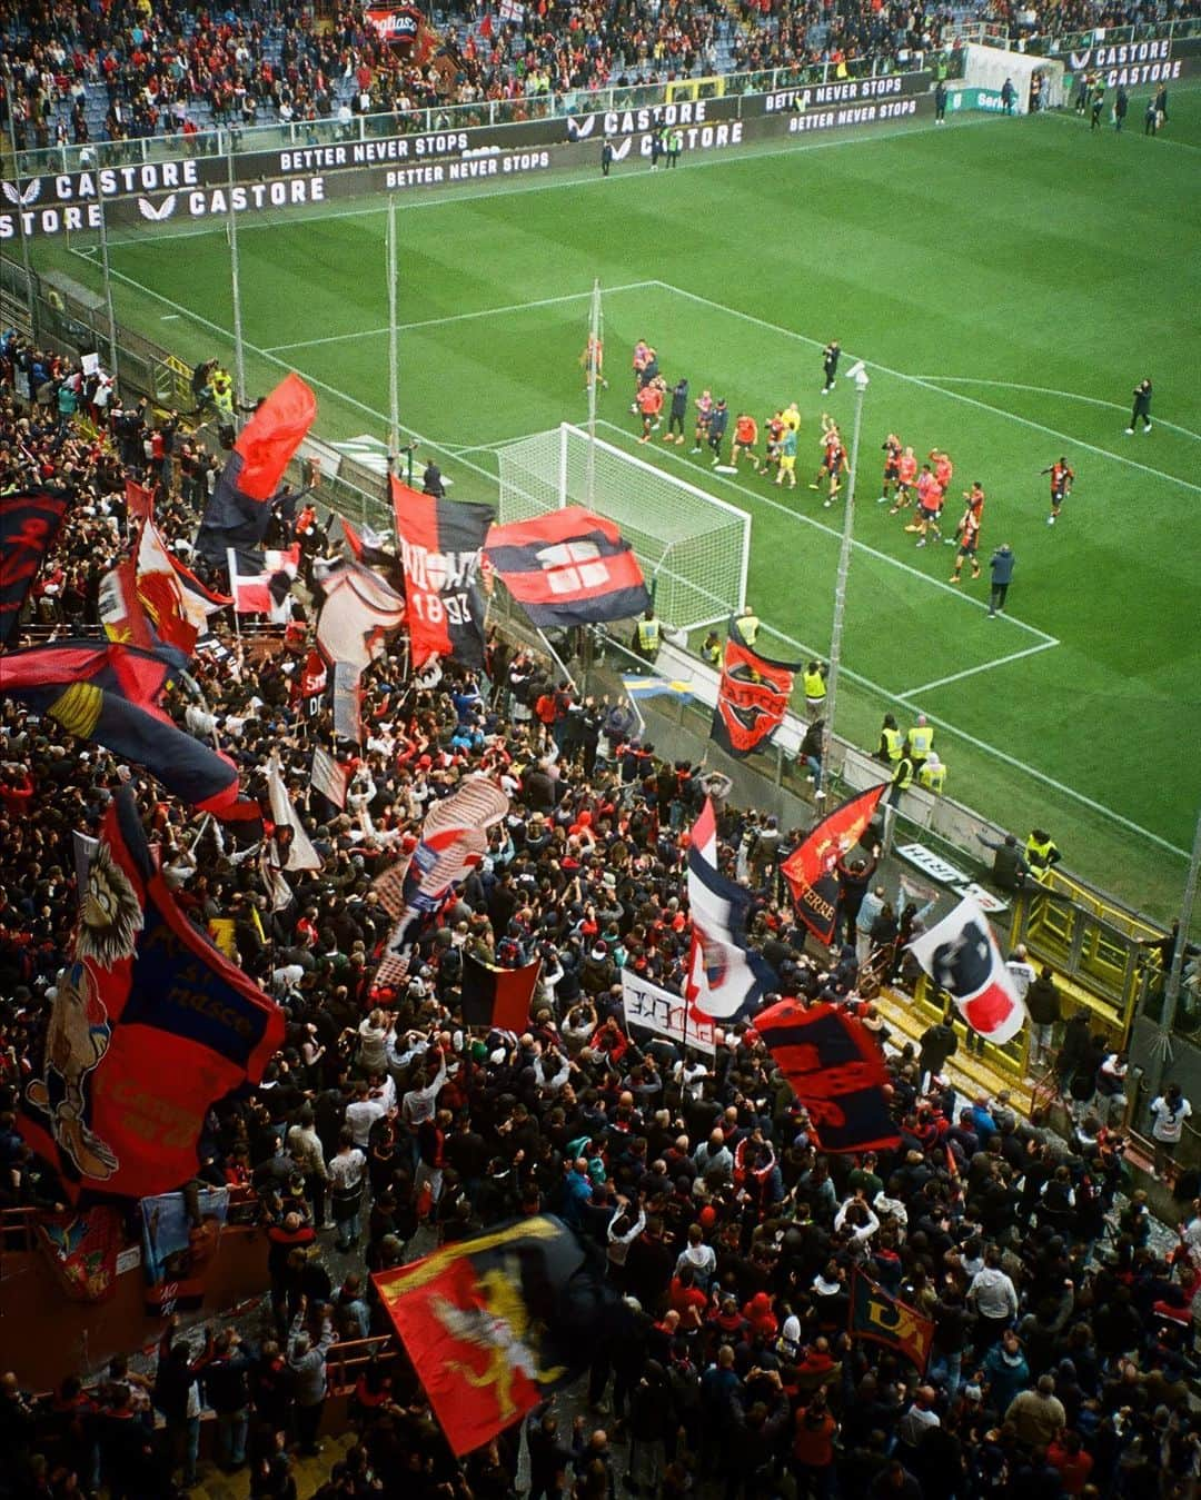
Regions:
<instances>
[{"instance_id":1,"label":"distant crowd in the far stand above the Castore advertising boards","mask_svg":"<svg viewBox=\"0 0 1201 1500\"><path fill-rule=\"evenodd\" d=\"M96 8L0 4L9 75L0 80L0 126L9 120L18 150L85 147L103 99L100 138L136 141L190 136L199 124L235 129L259 123L315 123L355 114L391 114L390 128L421 120L448 104L529 100L606 86L663 82L691 74L843 64L904 68L951 45L964 14L1008 28L1017 40L1090 26L1186 18L1179 4L979 8L885 0L538 0L505 21L480 4L451 8L423 63L402 57L345 6L330 27L315 27L297 4L249 4L237 12L115 0ZM718 40L729 39L729 63ZM198 110L204 105L204 110Z\"/></svg>"}]
</instances>

